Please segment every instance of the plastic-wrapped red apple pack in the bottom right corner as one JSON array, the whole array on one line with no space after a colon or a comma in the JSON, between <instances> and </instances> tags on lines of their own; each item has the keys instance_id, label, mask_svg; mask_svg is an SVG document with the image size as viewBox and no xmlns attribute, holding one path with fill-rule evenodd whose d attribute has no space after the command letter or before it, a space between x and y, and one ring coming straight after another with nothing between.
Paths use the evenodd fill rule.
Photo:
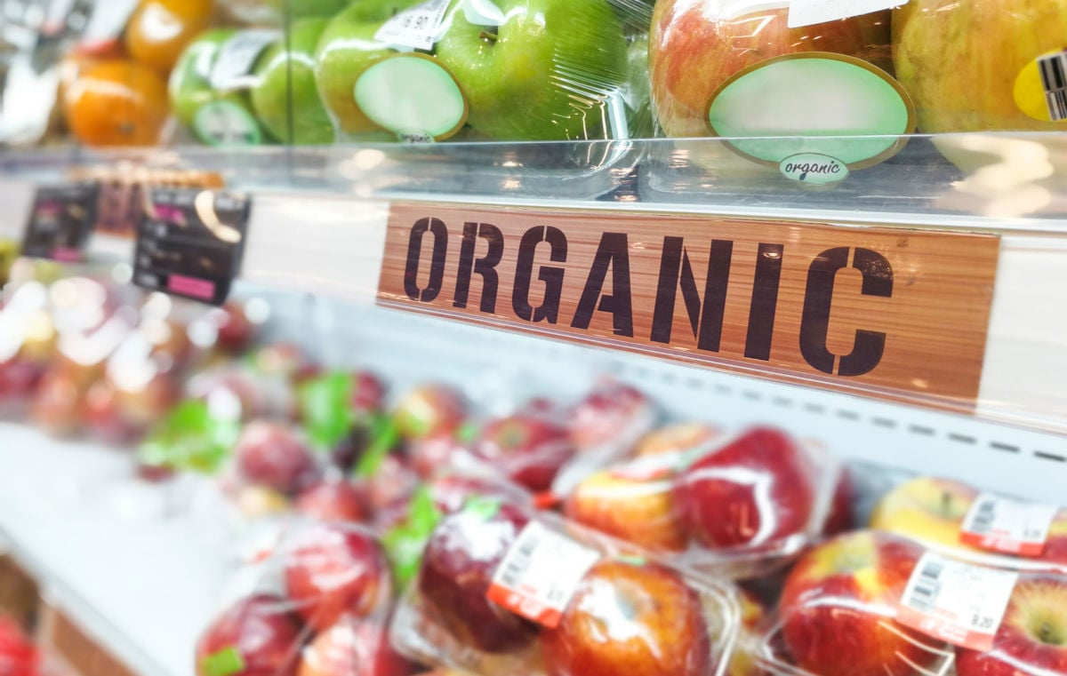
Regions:
<instances>
[{"instance_id":1,"label":"plastic-wrapped red apple pack in the bottom right corner","mask_svg":"<svg viewBox=\"0 0 1067 676\"><path fill-rule=\"evenodd\" d=\"M757 663L814 676L1062 674L1067 578L924 550L881 531L826 541L785 579Z\"/></svg>"}]
</instances>

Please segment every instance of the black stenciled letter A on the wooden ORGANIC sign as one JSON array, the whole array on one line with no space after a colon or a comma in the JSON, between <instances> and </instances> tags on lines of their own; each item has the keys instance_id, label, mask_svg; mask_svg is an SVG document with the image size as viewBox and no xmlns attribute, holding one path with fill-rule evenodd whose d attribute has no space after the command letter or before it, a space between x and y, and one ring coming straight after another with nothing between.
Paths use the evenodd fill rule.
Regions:
<instances>
[{"instance_id":1,"label":"black stenciled letter A on the wooden ORGANIC sign","mask_svg":"<svg viewBox=\"0 0 1067 676\"><path fill-rule=\"evenodd\" d=\"M607 269L611 268L611 294L601 294ZM596 300L600 299L600 303ZM593 309L610 312L616 336L634 337L634 311L630 294L630 244L625 232L604 232L589 269L586 288L574 311L571 326L589 328Z\"/></svg>"}]
</instances>

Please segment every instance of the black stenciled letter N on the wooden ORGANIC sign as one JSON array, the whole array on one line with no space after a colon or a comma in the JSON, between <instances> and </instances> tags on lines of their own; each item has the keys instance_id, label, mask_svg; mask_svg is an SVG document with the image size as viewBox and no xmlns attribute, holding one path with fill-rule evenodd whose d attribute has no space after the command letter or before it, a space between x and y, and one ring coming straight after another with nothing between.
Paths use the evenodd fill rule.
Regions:
<instances>
[{"instance_id":1,"label":"black stenciled letter N on the wooden ORGANIC sign","mask_svg":"<svg viewBox=\"0 0 1067 676\"><path fill-rule=\"evenodd\" d=\"M727 303L727 285L730 278L730 260L733 242L713 240L707 259L707 277L704 281L704 301L701 307L697 280L681 237L665 237L664 253L659 259L659 281L656 286L655 309L652 315L652 333L655 342L669 343L674 324L674 301L678 290L689 317L689 326L697 339L697 348L719 351L722 337L722 315Z\"/></svg>"}]
</instances>

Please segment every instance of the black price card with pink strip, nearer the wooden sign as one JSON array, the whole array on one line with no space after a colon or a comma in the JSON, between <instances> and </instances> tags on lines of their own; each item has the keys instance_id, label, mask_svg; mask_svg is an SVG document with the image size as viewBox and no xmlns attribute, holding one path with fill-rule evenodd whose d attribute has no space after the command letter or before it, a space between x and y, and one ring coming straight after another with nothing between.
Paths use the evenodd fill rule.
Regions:
<instances>
[{"instance_id":1,"label":"black price card with pink strip, nearer the wooden sign","mask_svg":"<svg viewBox=\"0 0 1067 676\"><path fill-rule=\"evenodd\" d=\"M222 305L240 273L252 211L248 195L157 188L138 226L133 281Z\"/></svg>"}]
</instances>

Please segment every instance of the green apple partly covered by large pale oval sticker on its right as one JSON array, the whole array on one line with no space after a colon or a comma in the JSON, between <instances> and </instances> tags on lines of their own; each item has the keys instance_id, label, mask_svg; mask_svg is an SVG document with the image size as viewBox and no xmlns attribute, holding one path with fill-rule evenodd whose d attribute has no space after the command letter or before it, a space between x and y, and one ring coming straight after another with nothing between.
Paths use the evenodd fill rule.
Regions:
<instances>
[{"instance_id":1,"label":"green apple partly covered by large pale oval sticker on its right","mask_svg":"<svg viewBox=\"0 0 1067 676\"><path fill-rule=\"evenodd\" d=\"M423 0L360 0L327 26L315 57L319 94L340 131L363 139L395 139L371 122L355 101L355 83L376 62L396 50L375 38L382 25Z\"/></svg>"}]
</instances>

